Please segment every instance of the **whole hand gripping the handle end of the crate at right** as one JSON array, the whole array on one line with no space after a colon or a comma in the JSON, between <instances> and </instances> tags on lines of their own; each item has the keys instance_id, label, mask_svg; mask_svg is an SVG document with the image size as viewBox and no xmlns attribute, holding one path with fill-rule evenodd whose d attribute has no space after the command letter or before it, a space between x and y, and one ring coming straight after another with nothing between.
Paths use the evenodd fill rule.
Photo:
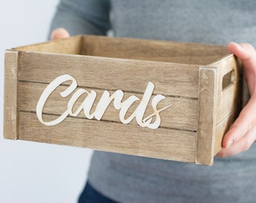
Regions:
<instances>
[{"instance_id":1,"label":"whole hand gripping the handle end of the crate at right","mask_svg":"<svg viewBox=\"0 0 256 203\"><path fill-rule=\"evenodd\" d=\"M228 44L230 53L242 60L245 80L251 95L230 130L224 135L222 150L217 156L233 156L248 150L256 141L256 51L251 44ZM256 156L256 155L255 155Z\"/></svg>"}]
</instances>

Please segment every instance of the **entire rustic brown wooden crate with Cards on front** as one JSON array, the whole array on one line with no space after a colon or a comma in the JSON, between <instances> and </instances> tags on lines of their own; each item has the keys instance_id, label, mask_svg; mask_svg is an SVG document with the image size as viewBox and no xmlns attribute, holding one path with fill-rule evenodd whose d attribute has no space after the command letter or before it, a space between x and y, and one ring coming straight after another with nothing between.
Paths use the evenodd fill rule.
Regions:
<instances>
[{"instance_id":1,"label":"entire rustic brown wooden crate with Cards on front","mask_svg":"<svg viewBox=\"0 0 256 203\"><path fill-rule=\"evenodd\" d=\"M5 53L5 138L212 165L241 105L226 47L79 35Z\"/></svg>"}]
</instances>

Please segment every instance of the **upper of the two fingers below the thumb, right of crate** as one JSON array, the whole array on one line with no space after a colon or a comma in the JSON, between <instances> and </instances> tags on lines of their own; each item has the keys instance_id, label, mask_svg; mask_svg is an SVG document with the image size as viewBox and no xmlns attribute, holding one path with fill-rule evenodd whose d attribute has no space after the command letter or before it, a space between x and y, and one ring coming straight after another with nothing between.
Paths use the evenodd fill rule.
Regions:
<instances>
[{"instance_id":1,"label":"upper of the two fingers below the thumb, right of crate","mask_svg":"<svg viewBox=\"0 0 256 203\"><path fill-rule=\"evenodd\" d=\"M248 131L256 126L256 96L250 98L248 104L242 109L239 117L226 133L222 141L222 147L230 147L236 144Z\"/></svg>"}]
</instances>

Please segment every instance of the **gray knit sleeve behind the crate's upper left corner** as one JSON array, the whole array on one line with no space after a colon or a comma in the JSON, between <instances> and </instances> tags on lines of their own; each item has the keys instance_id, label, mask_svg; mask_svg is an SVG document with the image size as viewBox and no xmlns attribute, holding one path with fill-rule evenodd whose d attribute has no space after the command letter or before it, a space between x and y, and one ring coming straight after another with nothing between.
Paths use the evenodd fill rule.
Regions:
<instances>
[{"instance_id":1,"label":"gray knit sleeve behind the crate's upper left corner","mask_svg":"<svg viewBox=\"0 0 256 203\"><path fill-rule=\"evenodd\" d=\"M64 28L70 35L106 35L111 29L109 16L108 0L60 0L50 33Z\"/></svg>"}]
</instances>

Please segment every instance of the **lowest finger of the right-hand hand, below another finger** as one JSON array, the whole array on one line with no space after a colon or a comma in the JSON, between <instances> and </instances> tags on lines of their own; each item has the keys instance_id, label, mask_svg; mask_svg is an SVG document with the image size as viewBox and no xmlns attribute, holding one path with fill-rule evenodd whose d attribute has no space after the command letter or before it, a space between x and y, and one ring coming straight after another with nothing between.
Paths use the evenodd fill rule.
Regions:
<instances>
[{"instance_id":1,"label":"lowest finger of the right-hand hand, below another finger","mask_svg":"<svg viewBox=\"0 0 256 203\"><path fill-rule=\"evenodd\" d=\"M256 139L256 126L247 132L239 141L232 144L230 147L223 148L216 156L226 157L233 156L238 153L245 152L251 147Z\"/></svg>"}]
</instances>

